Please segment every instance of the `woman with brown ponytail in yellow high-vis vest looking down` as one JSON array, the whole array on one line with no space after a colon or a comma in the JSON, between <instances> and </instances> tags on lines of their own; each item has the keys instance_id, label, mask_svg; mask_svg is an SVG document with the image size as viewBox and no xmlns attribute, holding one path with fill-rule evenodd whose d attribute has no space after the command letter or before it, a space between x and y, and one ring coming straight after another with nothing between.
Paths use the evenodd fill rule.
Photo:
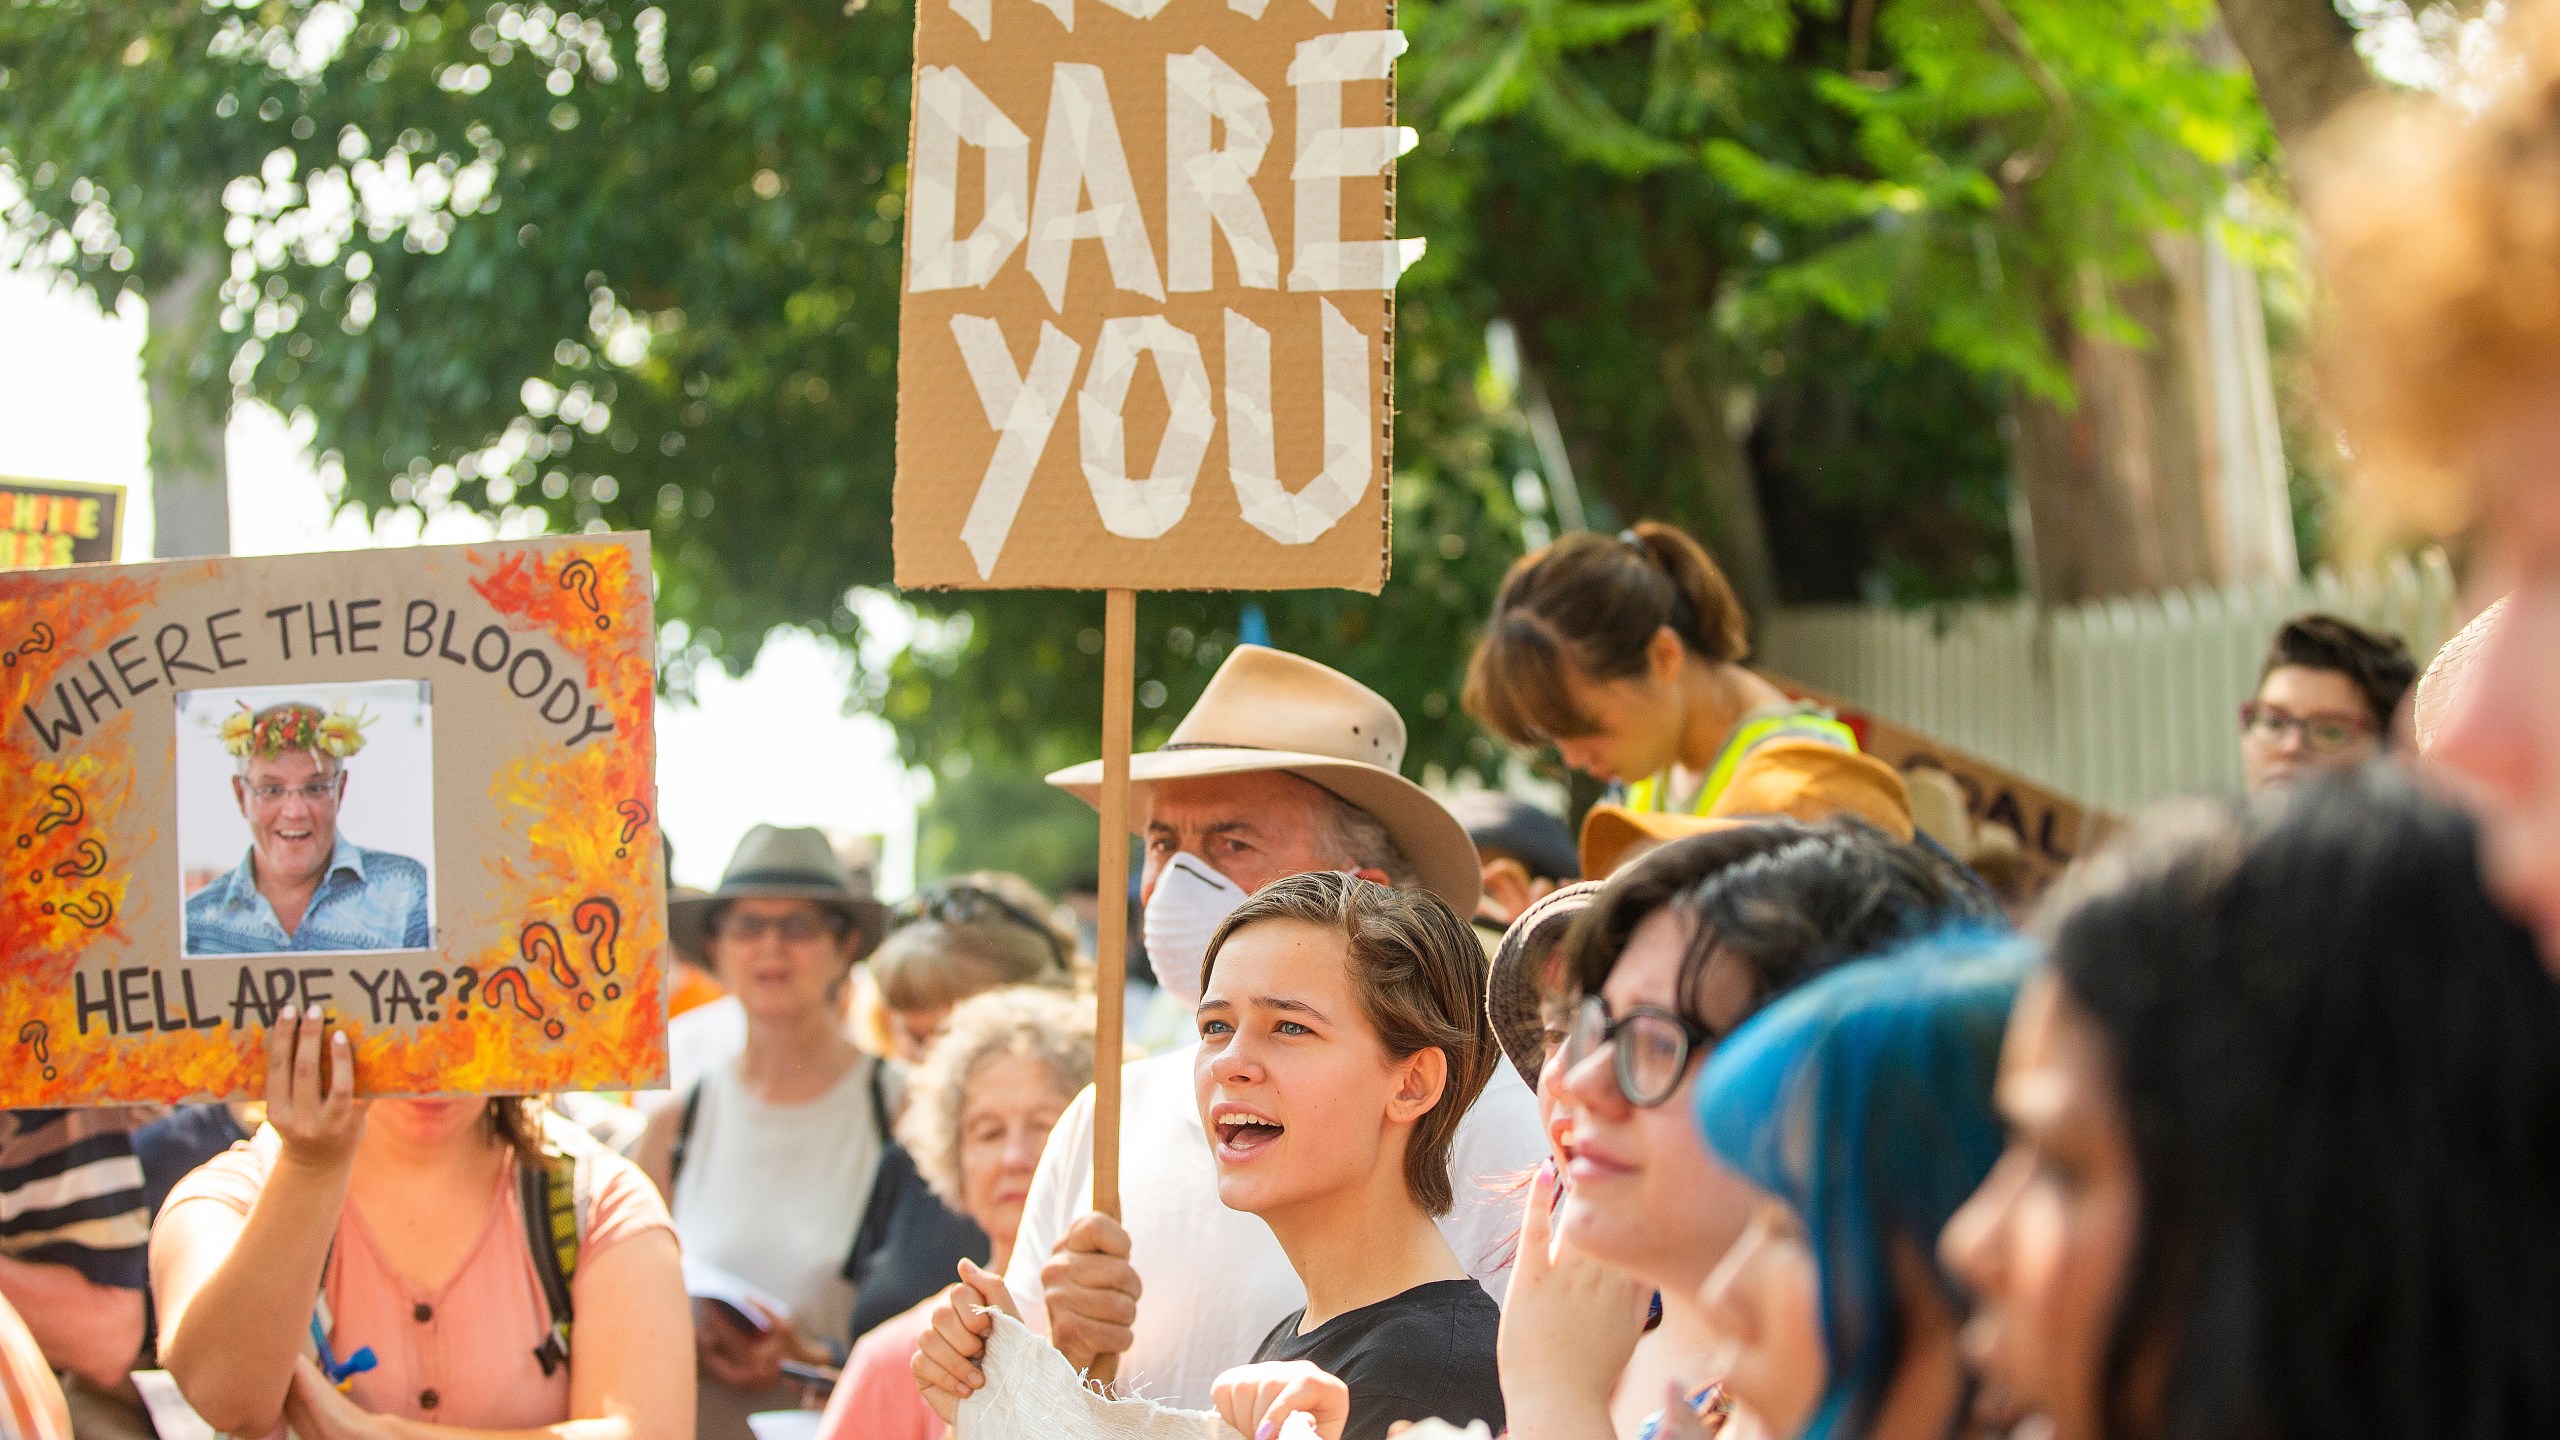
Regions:
<instances>
[{"instance_id":1,"label":"woman with brown ponytail in yellow high-vis vest looking down","mask_svg":"<svg viewBox=\"0 0 2560 1440\"><path fill-rule=\"evenodd\" d=\"M1521 556L1467 664L1467 712L1626 789L1628 810L1705 815L1774 738L1856 751L1848 725L1741 661L1746 615L1672 525L1577 533Z\"/></svg>"}]
</instances>

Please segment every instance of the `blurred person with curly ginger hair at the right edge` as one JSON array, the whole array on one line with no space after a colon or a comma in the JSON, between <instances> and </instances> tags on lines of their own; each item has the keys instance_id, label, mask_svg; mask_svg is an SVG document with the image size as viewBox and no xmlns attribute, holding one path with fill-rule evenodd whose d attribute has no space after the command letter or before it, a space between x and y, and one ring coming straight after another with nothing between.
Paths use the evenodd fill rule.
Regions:
<instances>
[{"instance_id":1,"label":"blurred person with curly ginger hair at the right edge","mask_svg":"<svg viewBox=\"0 0 2560 1440\"><path fill-rule=\"evenodd\" d=\"M2468 533L2504 594L2419 684L2419 746L2560 971L2560 5L2511 5L2476 79L2353 115L2307 167L2324 389L2386 518Z\"/></svg>"}]
</instances>

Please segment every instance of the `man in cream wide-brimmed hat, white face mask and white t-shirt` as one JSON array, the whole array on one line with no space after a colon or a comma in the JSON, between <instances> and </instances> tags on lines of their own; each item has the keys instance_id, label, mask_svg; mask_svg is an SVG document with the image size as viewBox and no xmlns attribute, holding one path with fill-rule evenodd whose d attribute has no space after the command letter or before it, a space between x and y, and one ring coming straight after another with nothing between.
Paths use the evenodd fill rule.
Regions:
<instances>
[{"instance_id":1,"label":"man in cream wide-brimmed hat, white face mask and white t-shirt","mask_svg":"<svg viewBox=\"0 0 2560 1440\"><path fill-rule=\"evenodd\" d=\"M1475 846L1441 802L1398 774L1403 758L1405 723L1385 697L1265 646L1229 653L1165 748L1132 756L1132 830L1147 840L1147 961L1183 1010L1201 1002L1201 958L1219 920L1290 874L1352 871L1475 915ZM1050 784L1093 802L1101 764L1062 769ZM1019 1312L1078 1368L1119 1355L1121 1386L1208 1409L1219 1371L1252 1355L1306 1297L1270 1230L1219 1202L1193 1056L1196 1045L1183 1045L1121 1074L1121 1222L1091 1215L1093 1092L1075 1099L1039 1156L1004 1284L986 1281L973 1304ZM1449 1248L1495 1299L1518 1230L1500 1186L1544 1156L1528 1086L1498 1068L1459 1125L1449 1163L1459 1199L1441 1220ZM916 1376L927 1386L973 1379L986 1327L947 1297ZM955 1391L927 1399L940 1407Z\"/></svg>"}]
</instances>

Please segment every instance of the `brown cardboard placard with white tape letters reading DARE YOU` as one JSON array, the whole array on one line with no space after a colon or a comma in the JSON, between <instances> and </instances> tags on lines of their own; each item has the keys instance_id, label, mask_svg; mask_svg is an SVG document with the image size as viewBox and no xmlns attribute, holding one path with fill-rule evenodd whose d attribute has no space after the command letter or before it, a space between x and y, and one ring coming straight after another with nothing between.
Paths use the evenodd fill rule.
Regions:
<instances>
[{"instance_id":1,"label":"brown cardboard placard with white tape letters reading DARE YOU","mask_svg":"<svg viewBox=\"0 0 2560 1440\"><path fill-rule=\"evenodd\" d=\"M1377 592L1390 0L922 0L901 587Z\"/></svg>"}]
</instances>

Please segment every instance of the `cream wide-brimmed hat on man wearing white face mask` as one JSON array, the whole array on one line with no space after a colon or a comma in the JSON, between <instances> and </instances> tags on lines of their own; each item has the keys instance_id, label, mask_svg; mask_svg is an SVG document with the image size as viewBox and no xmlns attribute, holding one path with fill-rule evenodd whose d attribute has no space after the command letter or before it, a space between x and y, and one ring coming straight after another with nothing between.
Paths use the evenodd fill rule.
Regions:
<instances>
[{"instance_id":1,"label":"cream wide-brimmed hat on man wearing white face mask","mask_svg":"<svg viewBox=\"0 0 2560 1440\"><path fill-rule=\"evenodd\" d=\"M1293 774L1377 817L1423 889L1475 915L1485 884L1475 843L1431 792L1395 774L1403 761L1405 723L1388 697L1306 656L1236 646L1165 748L1129 756L1129 828L1144 835L1160 779ZM1050 784L1098 805L1103 764L1068 766Z\"/></svg>"}]
</instances>

